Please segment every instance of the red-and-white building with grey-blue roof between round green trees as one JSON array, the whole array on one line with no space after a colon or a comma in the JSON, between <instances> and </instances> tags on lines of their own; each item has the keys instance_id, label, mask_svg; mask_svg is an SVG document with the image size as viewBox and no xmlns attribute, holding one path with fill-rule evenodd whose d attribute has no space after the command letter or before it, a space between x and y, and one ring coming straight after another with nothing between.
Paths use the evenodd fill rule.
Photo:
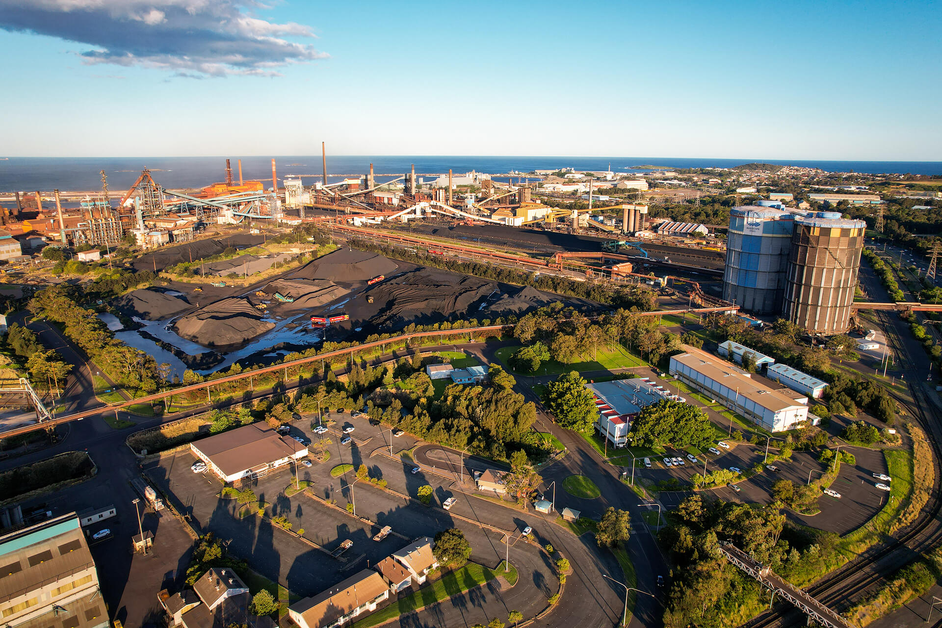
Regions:
<instances>
[{"instance_id":1,"label":"red-and-white building with grey-blue roof between round green trees","mask_svg":"<svg viewBox=\"0 0 942 628\"><path fill-rule=\"evenodd\" d=\"M595 429L616 447L628 443L631 421L645 406L666 399L686 401L648 378L600 381L586 384L586 388L592 391L598 410Z\"/></svg>"}]
</instances>

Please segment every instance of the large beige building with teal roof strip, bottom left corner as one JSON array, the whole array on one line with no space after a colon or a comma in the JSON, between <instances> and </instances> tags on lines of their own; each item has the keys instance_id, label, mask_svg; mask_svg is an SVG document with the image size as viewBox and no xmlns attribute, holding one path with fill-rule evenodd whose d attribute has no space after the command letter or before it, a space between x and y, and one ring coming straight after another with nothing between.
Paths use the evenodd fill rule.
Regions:
<instances>
[{"instance_id":1,"label":"large beige building with teal roof strip, bottom left corner","mask_svg":"<svg viewBox=\"0 0 942 628\"><path fill-rule=\"evenodd\" d=\"M0 565L4 626L110 625L95 561L74 512L0 537Z\"/></svg>"}]
</instances>

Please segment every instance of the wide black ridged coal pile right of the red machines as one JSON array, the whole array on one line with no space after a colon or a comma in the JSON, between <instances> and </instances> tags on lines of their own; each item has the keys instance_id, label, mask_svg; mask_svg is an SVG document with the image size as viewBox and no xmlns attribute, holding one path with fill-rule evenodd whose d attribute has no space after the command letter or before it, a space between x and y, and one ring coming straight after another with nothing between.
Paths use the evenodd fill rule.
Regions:
<instances>
[{"instance_id":1,"label":"wide black ridged coal pile right of the red machines","mask_svg":"<svg viewBox=\"0 0 942 628\"><path fill-rule=\"evenodd\" d=\"M380 306L380 313L370 322L385 327L463 317L472 314L472 306L497 290L495 282L421 268L382 282L369 291Z\"/></svg>"}]
</instances>

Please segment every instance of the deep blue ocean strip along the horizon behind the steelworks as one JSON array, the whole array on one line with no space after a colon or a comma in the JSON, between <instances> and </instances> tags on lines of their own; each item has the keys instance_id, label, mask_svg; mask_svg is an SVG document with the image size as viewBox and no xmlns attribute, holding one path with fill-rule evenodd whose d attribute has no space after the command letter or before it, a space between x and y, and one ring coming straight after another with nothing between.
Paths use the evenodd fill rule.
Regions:
<instances>
[{"instance_id":1,"label":"deep blue ocean strip along the horizon behind the steelworks","mask_svg":"<svg viewBox=\"0 0 942 628\"><path fill-rule=\"evenodd\" d=\"M99 171L104 169L108 188L127 190L147 167L154 181L164 187L202 187L225 181L225 157L8 157L0 158L0 192L41 190L96 190L101 187ZM238 179L237 157L231 157L233 177ZM271 156L242 157L242 175L247 180L271 181ZM300 175L304 185L321 176L321 156L275 156L278 178ZM865 172L942 174L938 161L793 161L774 158L708 159L661 157L498 157L467 155L338 155L327 156L329 181L344 175L362 175L373 164L377 175L401 176L415 165L416 174L430 175L469 170L505 173L511 170L528 172L534 169L575 168L627 172L633 166L658 168L730 168L750 162L765 162L830 172ZM643 170L642 170L643 171ZM382 181L382 179L381 179Z\"/></svg>"}]
</instances>

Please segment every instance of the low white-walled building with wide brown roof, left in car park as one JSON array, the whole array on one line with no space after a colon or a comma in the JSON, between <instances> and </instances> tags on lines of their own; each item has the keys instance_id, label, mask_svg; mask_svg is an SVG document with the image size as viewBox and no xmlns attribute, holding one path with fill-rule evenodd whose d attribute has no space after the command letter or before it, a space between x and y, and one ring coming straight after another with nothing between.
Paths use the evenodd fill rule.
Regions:
<instances>
[{"instance_id":1,"label":"low white-walled building with wide brown roof, left in car park","mask_svg":"<svg viewBox=\"0 0 942 628\"><path fill-rule=\"evenodd\" d=\"M272 469L307 456L307 447L279 435L265 423L230 429L189 447L224 482L268 475Z\"/></svg>"}]
</instances>

